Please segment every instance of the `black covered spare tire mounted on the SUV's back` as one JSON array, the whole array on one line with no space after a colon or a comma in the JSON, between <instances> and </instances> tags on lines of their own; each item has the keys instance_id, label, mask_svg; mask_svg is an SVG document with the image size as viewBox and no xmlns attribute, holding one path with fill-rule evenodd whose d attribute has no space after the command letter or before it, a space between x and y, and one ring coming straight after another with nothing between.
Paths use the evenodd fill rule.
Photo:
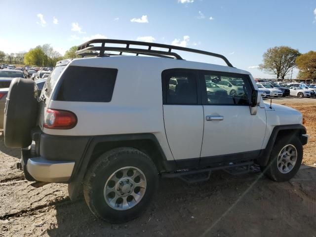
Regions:
<instances>
[{"instance_id":1,"label":"black covered spare tire mounted on the SUV's back","mask_svg":"<svg viewBox=\"0 0 316 237\"><path fill-rule=\"evenodd\" d=\"M32 143L31 129L38 116L38 87L33 80L14 78L11 81L4 111L4 144L24 148Z\"/></svg>"}]
</instances>

